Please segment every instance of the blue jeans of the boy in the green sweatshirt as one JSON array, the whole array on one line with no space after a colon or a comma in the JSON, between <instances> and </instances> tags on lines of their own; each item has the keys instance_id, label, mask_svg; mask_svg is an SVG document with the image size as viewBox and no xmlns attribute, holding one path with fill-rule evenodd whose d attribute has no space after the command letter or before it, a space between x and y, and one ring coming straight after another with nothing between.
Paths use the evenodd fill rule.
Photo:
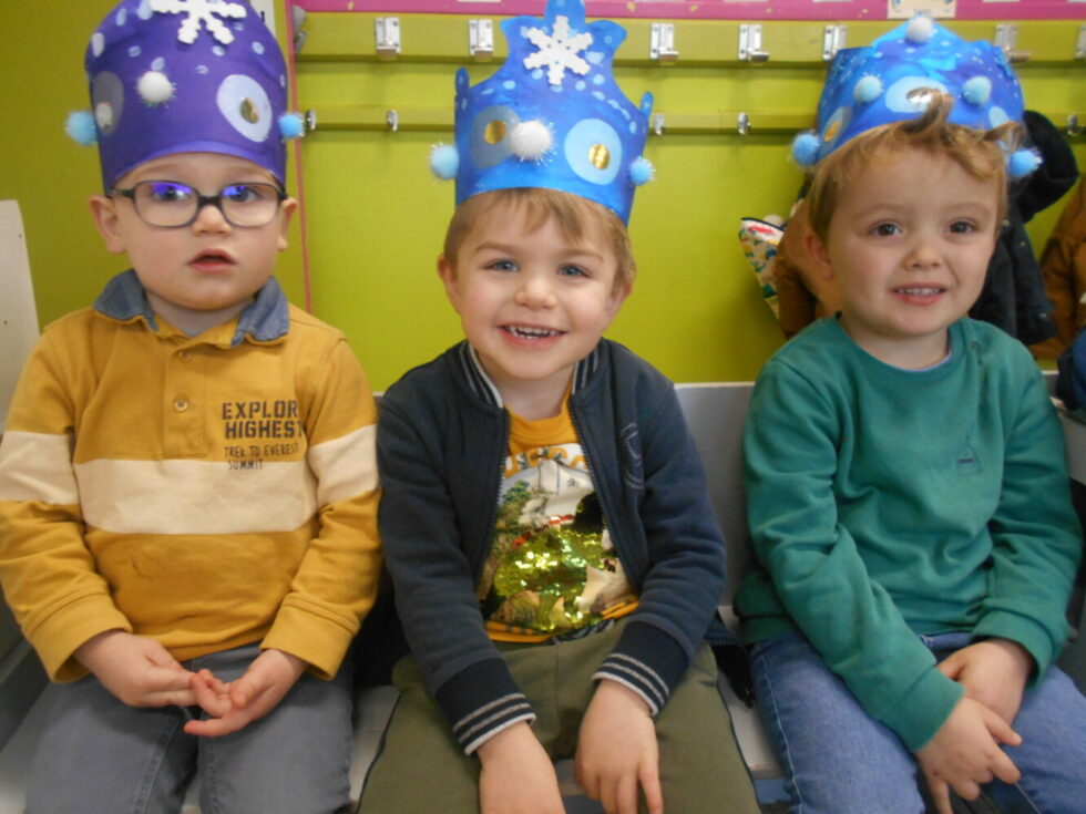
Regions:
<instances>
[{"instance_id":1,"label":"blue jeans of the boy in the green sweatshirt","mask_svg":"<svg viewBox=\"0 0 1086 814\"><path fill-rule=\"evenodd\" d=\"M943 659L967 633L921 637ZM758 707L785 769L793 814L922 814L916 762L870 718L800 633L750 652ZM1005 814L1086 814L1086 698L1055 667L1028 690L1014 720L1022 745L1006 748L1015 785L984 790Z\"/></svg>"}]
</instances>

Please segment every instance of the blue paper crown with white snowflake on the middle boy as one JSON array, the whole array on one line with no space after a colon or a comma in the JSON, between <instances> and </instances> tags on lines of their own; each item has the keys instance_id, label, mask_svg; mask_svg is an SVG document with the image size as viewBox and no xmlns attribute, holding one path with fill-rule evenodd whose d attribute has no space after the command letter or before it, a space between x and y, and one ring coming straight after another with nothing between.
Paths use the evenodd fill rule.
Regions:
<instances>
[{"instance_id":1,"label":"blue paper crown with white snowflake on the middle boy","mask_svg":"<svg viewBox=\"0 0 1086 814\"><path fill-rule=\"evenodd\" d=\"M653 96L634 105L612 58L626 39L614 22L586 23L583 0L549 0L545 16L502 22L509 56L474 87L457 72L457 146L431 168L457 179L457 203L479 193L547 187L594 200L629 220L634 189L653 176L644 158Z\"/></svg>"}]
</instances>

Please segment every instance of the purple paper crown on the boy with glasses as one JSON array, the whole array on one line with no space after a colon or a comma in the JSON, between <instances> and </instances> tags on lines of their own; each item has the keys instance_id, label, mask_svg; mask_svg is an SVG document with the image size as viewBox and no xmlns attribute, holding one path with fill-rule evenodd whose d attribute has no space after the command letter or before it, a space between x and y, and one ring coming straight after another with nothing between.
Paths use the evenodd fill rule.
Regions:
<instances>
[{"instance_id":1,"label":"purple paper crown on the boy with glasses","mask_svg":"<svg viewBox=\"0 0 1086 814\"><path fill-rule=\"evenodd\" d=\"M123 0L86 49L91 112L68 132L98 143L106 188L130 169L173 153L224 153L258 164L281 184L287 113L279 45L247 2Z\"/></svg>"}]
</instances>

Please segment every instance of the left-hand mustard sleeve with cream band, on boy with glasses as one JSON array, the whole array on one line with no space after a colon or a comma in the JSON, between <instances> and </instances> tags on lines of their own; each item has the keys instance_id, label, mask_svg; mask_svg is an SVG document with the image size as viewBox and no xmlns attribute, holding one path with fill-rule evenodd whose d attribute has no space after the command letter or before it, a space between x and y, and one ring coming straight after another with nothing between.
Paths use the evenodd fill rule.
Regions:
<instances>
[{"instance_id":1,"label":"left-hand mustard sleeve with cream band, on boy with glasses","mask_svg":"<svg viewBox=\"0 0 1086 814\"><path fill-rule=\"evenodd\" d=\"M53 681L86 674L72 655L88 639L132 630L83 543L64 368L47 330L23 368L0 443L0 584Z\"/></svg>"}]
</instances>

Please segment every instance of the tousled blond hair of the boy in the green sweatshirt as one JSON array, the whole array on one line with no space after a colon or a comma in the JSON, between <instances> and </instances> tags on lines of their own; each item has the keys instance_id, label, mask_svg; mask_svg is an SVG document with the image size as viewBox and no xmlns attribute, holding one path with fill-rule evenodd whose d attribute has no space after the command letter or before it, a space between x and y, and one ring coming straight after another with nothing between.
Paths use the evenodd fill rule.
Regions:
<instances>
[{"instance_id":1,"label":"tousled blond hair of the boy in the green sweatshirt","mask_svg":"<svg viewBox=\"0 0 1086 814\"><path fill-rule=\"evenodd\" d=\"M953 105L953 96L933 91L928 107L916 119L872 127L826 156L814 167L807 195L808 217L818 238L827 239L841 193L863 168L903 150L945 155L974 178L994 179L1000 189L996 223L1002 223L1007 208L1005 155L1017 144L1018 125L1007 122L992 130L976 130L952 124L946 117Z\"/></svg>"}]
</instances>

